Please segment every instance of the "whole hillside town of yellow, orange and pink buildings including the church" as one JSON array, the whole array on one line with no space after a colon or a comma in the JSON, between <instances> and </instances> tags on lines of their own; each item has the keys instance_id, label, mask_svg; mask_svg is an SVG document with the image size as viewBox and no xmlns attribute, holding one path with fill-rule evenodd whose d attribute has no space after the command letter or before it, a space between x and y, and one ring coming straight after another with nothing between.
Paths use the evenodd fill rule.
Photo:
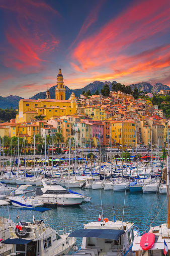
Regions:
<instances>
[{"instance_id":1,"label":"whole hillside town of yellow, orange and pink buildings including the church","mask_svg":"<svg viewBox=\"0 0 170 256\"><path fill-rule=\"evenodd\" d=\"M163 90L162 94L165 94ZM169 91L167 91L168 93ZM152 95L148 95L152 97ZM21 99L16 119L1 123L0 138L26 139L30 151L33 137L38 145L46 136L53 134L54 150L66 148L69 138L76 141L77 147L97 147L100 136L102 147L112 147L123 143L123 149L152 146L163 149L167 143L170 120L163 110L152 105L151 100L135 99L131 93L111 91L108 96L87 95L75 97L71 94L65 100L65 86L61 69L57 76L55 99L50 99L49 90L45 99ZM123 127L123 138L122 138ZM59 152L59 151L58 151ZM61 150L60 150L61 152Z\"/></svg>"}]
</instances>

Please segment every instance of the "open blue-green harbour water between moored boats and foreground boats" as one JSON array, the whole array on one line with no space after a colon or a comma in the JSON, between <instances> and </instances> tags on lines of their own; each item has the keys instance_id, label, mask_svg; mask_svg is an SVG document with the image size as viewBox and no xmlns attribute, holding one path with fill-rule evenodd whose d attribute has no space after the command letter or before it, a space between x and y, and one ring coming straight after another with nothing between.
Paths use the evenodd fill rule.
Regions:
<instances>
[{"instance_id":1,"label":"open blue-green harbour water between moored boats and foreground boats","mask_svg":"<svg viewBox=\"0 0 170 256\"><path fill-rule=\"evenodd\" d=\"M83 228L83 224L98 221L99 213L103 210L103 217L113 220L113 206L115 209L115 215L117 220L122 220L124 209L124 221L133 222L143 232L157 215L155 221L151 224L159 225L166 222L166 195L162 194L160 197L158 194L142 194L142 193L130 193L130 191L116 191L104 190L104 189L73 189L78 193L86 193L92 197L91 202L83 203L80 206L67 207L59 206L51 208L51 211L44 213L46 222L54 229L63 229L66 227L67 231L70 227L72 230ZM159 200L158 200L159 198ZM158 204L157 204L158 200ZM102 205L101 205L102 201ZM163 205L164 204L164 205ZM158 205L155 212L155 207ZM124 207L125 206L125 207ZM50 207L49 207L50 208ZM15 221L18 214L21 214L20 208L12 205L1 207L1 215ZM25 216L26 211L22 212L21 220ZM28 211L27 220L32 221L33 211ZM35 219L44 219L42 214L34 212ZM24 220L26 221L25 217Z\"/></svg>"}]
</instances>

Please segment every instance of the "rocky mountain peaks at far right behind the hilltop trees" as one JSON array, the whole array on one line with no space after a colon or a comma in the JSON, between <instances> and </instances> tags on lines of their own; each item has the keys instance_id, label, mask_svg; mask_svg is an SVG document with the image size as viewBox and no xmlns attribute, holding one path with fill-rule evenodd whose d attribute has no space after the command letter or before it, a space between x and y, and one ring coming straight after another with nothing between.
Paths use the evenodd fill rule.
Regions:
<instances>
[{"instance_id":1,"label":"rocky mountain peaks at far right behind the hilltop trees","mask_svg":"<svg viewBox=\"0 0 170 256\"><path fill-rule=\"evenodd\" d=\"M157 94L160 90L170 90L167 85L163 85L161 83L156 83L153 86L150 83L141 82L138 84L129 85L132 91L137 88L138 91L151 92Z\"/></svg>"}]
</instances>

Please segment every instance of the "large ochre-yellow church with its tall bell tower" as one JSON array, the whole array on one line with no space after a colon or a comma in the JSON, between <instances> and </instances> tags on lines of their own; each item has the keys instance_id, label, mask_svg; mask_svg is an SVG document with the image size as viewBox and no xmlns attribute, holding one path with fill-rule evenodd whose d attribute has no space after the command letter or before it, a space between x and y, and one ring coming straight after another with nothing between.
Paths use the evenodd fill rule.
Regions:
<instances>
[{"instance_id":1,"label":"large ochre-yellow church with its tall bell tower","mask_svg":"<svg viewBox=\"0 0 170 256\"><path fill-rule=\"evenodd\" d=\"M35 119L36 115L42 115L44 120L76 113L75 95L71 94L69 100L65 100L65 86L61 69L57 76L55 88L55 99L50 99L49 90L45 99L21 99L19 101L19 114L16 116L16 123L29 122Z\"/></svg>"}]
</instances>

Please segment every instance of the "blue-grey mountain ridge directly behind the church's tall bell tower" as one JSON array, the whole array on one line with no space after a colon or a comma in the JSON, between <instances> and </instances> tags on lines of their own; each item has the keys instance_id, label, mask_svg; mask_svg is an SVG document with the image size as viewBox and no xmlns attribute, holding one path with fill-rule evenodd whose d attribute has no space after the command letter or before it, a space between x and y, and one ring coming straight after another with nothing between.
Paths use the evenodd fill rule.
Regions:
<instances>
[{"instance_id":1,"label":"blue-grey mountain ridge directly behind the church's tall bell tower","mask_svg":"<svg viewBox=\"0 0 170 256\"><path fill-rule=\"evenodd\" d=\"M80 94L82 94L83 91L87 92L88 90L91 91L91 93L95 93L96 90L99 90L99 93L101 92L101 89L103 89L105 84L108 84L110 87L110 90L112 89L112 83L116 84L116 81L110 82L110 81L105 81L105 82L100 82L100 81L95 81L93 83L90 83L89 85L81 88L81 89L69 89L67 86L65 86L65 99L67 100L71 93L74 92L75 97L80 97ZM50 98L55 99L55 86L51 87L49 89L50 92ZM39 92L30 99L45 99L45 94L46 92Z\"/></svg>"}]
</instances>

